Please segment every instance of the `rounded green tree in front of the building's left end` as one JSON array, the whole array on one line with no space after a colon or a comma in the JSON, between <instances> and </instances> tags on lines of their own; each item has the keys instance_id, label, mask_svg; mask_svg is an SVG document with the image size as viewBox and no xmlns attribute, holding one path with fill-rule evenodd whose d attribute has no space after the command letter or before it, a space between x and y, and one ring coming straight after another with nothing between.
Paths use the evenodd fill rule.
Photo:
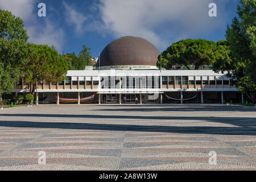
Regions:
<instances>
[{"instance_id":1,"label":"rounded green tree in front of the building's left end","mask_svg":"<svg viewBox=\"0 0 256 182\"><path fill-rule=\"evenodd\" d=\"M23 65L24 82L30 85L34 96L36 83L51 81L53 84L64 80L68 71L67 61L63 56L47 45L27 44L28 58Z\"/></svg>"}]
</instances>

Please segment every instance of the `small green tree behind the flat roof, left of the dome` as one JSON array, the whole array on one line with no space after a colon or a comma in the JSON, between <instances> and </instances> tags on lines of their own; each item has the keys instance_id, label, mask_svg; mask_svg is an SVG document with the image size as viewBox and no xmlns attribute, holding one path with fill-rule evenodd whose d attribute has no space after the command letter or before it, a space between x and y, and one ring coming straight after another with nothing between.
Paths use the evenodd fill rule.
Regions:
<instances>
[{"instance_id":1,"label":"small green tree behind the flat roof, left of the dome","mask_svg":"<svg viewBox=\"0 0 256 182\"><path fill-rule=\"evenodd\" d=\"M85 69L85 61L81 59L81 57L77 57L75 52L66 53L64 59L68 63L68 70L84 70Z\"/></svg>"}]
</instances>

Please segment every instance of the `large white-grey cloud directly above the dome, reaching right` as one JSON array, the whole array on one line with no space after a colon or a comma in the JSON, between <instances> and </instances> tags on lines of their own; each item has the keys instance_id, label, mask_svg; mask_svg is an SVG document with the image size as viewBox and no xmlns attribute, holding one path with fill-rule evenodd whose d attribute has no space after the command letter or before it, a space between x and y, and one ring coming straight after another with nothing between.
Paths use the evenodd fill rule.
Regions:
<instances>
[{"instance_id":1,"label":"large white-grey cloud directly above the dome, reaching right","mask_svg":"<svg viewBox=\"0 0 256 182\"><path fill-rule=\"evenodd\" d=\"M221 17L209 18L212 0L100 0L98 9L106 30L115 36L140 36L160 49L171 41L205 34L225 22ZM218 10L227 3L217 4Z\"/></svg>"}]
</instances>

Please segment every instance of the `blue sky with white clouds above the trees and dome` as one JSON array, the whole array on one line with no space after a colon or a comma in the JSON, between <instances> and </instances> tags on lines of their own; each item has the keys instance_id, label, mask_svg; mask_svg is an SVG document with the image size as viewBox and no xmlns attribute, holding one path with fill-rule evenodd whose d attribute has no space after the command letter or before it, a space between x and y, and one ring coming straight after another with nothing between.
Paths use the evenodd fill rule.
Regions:
<instances>
[{"instance_id":1,"label":"blue sky with white clouds above the trees and dome","mask_svg":"<svg viewBox=\"0 0 256 182\"><path fill-rule=\"evenodd\" d=\"M38 4L46 17L38 17ZM217 17L209 17L216 3ZM164 51L181 39L225 39L227 24L236 16L239 0L1 0L0 9L24 20L28 42L55 46L59 53L76 54L82 44L98 57L121 36L139 36Z\"/></svg>"}]
</instances>

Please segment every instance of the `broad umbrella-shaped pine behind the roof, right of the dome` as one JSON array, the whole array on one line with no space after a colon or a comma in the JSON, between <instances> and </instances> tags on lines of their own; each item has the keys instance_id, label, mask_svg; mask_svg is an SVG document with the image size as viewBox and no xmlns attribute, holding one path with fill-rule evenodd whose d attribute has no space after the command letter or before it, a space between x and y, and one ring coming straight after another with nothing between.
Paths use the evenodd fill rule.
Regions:
<instances>
[{"instance_id":1,"label":"broad umbrella-shaped pine behind the roof, right of the dome","mask_svg":"<svg viewBox=\"0 0 256 182\"><path fill-rule=\"evenodd\" d=\"M156 66L160 68L162 59L162 68L172 69L182 66L191 69L199 69L201 65L212 65L215 61L217 45L213 41L203 39L185 39L173 43L163 51L158 57Z\"/></svg>"}]
</instances>

